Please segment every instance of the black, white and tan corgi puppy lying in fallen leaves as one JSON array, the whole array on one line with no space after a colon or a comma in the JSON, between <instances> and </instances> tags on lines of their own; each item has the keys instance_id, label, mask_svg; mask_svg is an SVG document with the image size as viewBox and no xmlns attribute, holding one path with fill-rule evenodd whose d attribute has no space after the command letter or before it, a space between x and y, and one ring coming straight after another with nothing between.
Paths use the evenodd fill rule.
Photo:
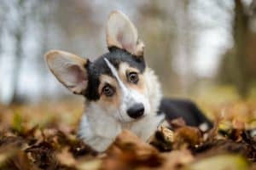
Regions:
<instances>
[{"instance_id":1,"label":"black, white and tan corgi puppy lying in fallen leaves","mask_svg":"<svg viewBox=\"0 0 256 170\"><path fill-rule=\"evenodd\" d=\"M147 141L165 115L182 117L190 126L212 126L189 100L163 99L160 82L144 60L137 29L119 11L109 14L107 44L109 52L93 62L61 50L45 55L57 80L85 98L78 132L85 144L102 152L123 129Z\"/></svg>"}]
</instances>

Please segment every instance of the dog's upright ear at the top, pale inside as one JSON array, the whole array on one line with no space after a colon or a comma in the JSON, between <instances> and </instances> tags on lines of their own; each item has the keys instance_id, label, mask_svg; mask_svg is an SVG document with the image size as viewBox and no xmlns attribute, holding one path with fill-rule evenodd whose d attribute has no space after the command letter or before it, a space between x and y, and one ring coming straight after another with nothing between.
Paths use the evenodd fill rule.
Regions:
<instances>
[{"instance_id":1,"label":"dog's upright ear at the top, pale inside","mask_svg":"<svg viewBox=\"0 0 256 170\"><path fill-rule=\"evenodd\" d=\"M107 43L108 48L122 48L137 57L143 56L144 44L138 39L136 27L119 11L109 14Z\"/></svg>"}]
</instances>

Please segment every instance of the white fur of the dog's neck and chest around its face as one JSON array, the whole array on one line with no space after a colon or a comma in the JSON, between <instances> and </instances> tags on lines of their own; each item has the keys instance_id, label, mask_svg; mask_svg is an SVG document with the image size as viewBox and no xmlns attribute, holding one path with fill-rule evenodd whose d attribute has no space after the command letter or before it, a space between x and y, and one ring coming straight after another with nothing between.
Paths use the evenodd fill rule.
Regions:
<instances>
[{"instance_id":1,"label":"white fur of the dog's neck and chest around its face","mask_svg":"<svg viewBox=\"0 0 256 170\"><path fill-rule=\"evenodd\" d=\"M84 139L85 144L89 144L93 148L95 146L96 150L105 150L123 129L131 130L144 141L148 140L164 117L157 116L162 94L154 71L147 68L144 78L148 89L150 114L134 122L119 122L98 105L90 103L84 111L79 127L79 136Z\"/></svg>"}]
</instances>

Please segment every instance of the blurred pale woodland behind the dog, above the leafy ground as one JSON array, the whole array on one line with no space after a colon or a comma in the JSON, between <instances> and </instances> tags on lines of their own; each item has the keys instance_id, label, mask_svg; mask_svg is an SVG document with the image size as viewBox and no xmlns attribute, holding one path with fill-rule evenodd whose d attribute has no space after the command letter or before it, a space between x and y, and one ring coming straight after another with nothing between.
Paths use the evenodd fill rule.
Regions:
<instances>
[{"instance_id":1,"label":"blurred pale woodland behind the dog, above the leafy ground","mask_svg":"<svg viewBox=\"0 0 256 170\"><path fill-rule=\"evenodd\" d=\"M79 99L46 68L61 49L96 59L108 52L108 14L137 26L164 94L223 103L256 99L256 1L1 0L0 103Z\"/></svg>"}]
</instances>

